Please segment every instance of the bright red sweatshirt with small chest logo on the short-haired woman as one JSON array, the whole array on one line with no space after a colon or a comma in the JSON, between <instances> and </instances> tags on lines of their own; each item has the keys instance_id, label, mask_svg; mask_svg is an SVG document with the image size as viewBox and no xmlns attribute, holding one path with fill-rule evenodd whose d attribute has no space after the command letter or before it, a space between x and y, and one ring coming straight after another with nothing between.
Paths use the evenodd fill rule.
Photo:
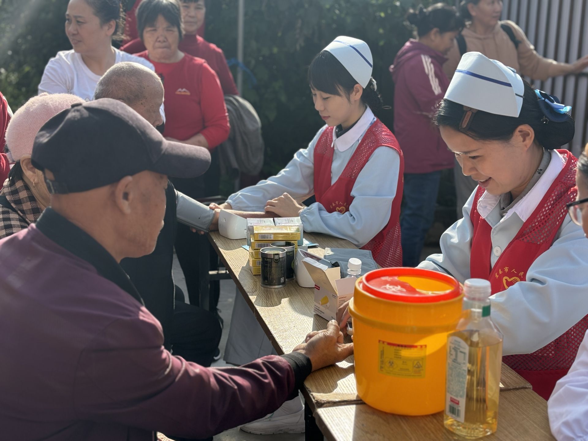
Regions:
<instances>
[{"instance_id":1,"label":"bright red sweatshirt with small chest logo on the short-haired woman","mask_svg":"<svg viewBox=\"0 0 588 441\"><path fill-rule=\"evenodd\" d=\"M163 136L186 141L202 133L213 149L229 137L229 115L218 76L202 58L184 55L177 63L148 59L163 81L165 131Z\"/></svg>"}]
</instances>

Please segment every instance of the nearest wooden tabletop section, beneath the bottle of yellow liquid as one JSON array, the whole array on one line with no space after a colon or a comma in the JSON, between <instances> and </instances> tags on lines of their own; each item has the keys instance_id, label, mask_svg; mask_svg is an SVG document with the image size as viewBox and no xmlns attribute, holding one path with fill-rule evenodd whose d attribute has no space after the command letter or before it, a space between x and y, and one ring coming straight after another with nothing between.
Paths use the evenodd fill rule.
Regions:
<instances>
[{"instance_id":1,"label":"nearest wooden tabletop section, beneath the bottle of yellow liquid","mask_svg":"<svg viewBox=\"0 0 588 441\"><path fill-rule=\"evenodd\" d=\"M393 399L393 398L392 398ZM329 441L444 441L465 440L443 426L443 413L400 416L368 405L323 407L316 422ZM547 402L530 389L500 394L498 430L485 440L553 440L547 419Z\"/></svg>"}]
</instances>

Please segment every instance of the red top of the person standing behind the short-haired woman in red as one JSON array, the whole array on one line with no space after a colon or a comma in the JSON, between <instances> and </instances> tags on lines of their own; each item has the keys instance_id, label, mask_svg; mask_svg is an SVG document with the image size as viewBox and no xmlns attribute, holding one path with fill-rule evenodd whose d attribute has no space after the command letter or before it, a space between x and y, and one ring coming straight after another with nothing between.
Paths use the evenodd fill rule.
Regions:
<instances>
[{"instance_id":1,"label":"red top of the person standing behind the short-haired woman in red","mask_svg":"<svg viewBox=\"0 0 588 441\"><path fill-rule=\"evenodd\" d=\"M233 74L230 73L229 66L226 64L225 54L223 54L222 49L209 43L200 35L184 35L178 49L186 54L205 59L218 75L220 86L225 95L239 95ZM137 54L145 51L145 45L143 45L141 39L136 38L122 46L121 51Z\"/></svg>"}]
</instances>

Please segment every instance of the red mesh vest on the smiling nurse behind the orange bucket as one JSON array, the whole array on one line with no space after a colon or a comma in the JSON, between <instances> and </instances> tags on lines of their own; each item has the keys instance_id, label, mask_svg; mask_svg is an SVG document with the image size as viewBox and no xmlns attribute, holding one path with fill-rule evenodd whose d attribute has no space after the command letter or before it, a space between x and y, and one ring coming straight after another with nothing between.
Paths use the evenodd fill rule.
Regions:
<instances>
[{"instance_id":1,"label":"red mesh vest on the smiling nurse behind the orange bucket","mask_svg":"<svg viewBox=\"0 0 588 441\"><path fill-rule=\"evenodd\" d=\"M566 159L566 165L493 268L490 268L492 228L477 212L477 202L485 190L477 189L470 213L474 227L470 274L472 278L490 280L493 294L526 280L535 259L552 246L567 214L566 203L576 199L577 159L566 150L558 152ZM530 354L507 355L502 360L531 383L534 392L549 399L557 380L572 366L586 329L588 316L544 348Z\"/></svg>"}]
</instances>

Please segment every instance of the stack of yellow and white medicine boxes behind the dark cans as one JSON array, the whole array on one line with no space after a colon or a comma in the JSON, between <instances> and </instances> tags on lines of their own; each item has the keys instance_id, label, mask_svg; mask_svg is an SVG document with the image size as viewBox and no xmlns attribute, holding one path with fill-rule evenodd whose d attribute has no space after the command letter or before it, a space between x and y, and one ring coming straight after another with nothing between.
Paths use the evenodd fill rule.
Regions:
<instances>
[{"instance_id":1,"label":"stack of yellow and white medicine boxes behind the dark cans","mask_svg":"<svg viewBox=\"0 0 588 441\"><path fill-rule=\"evenodd\" d=\"M296 219L296 218L293 218ZM299 219L299 218L298 218ZM247 219L247 242L249 245L249 267L253 275L261 274L260 250L271 246L272 242L289 241L298 244L302 242L302 222L300 225L275 226L273 219Z\"/></svg>"}]
</instances>

